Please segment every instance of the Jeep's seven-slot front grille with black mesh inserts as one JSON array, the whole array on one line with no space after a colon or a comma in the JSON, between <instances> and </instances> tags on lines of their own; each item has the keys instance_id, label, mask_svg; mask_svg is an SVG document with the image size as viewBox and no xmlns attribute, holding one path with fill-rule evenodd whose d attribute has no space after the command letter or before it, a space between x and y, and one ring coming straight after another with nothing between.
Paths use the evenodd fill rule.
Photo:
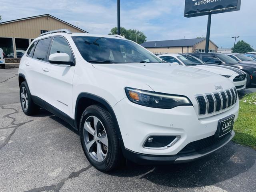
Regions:
<instances>
[{"instance_id":1,"label":"Jeep's seven-slot front grille with black mesh inserts","mask_svg":"<svg viewBox=\"0 0 256 192\"><path fill-rule=\"evenodd\" d=\"M237 97L235 87L225 91L196 95L199 115L211 114L230 108L236 103Z\"/></svg>"}]
</instances>

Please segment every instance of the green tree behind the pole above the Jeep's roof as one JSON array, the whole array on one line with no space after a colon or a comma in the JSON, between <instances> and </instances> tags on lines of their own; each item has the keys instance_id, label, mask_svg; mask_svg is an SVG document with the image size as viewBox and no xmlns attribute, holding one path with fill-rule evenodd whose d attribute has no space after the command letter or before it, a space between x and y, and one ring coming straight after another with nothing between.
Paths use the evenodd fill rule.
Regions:
<instances>
[{"instance_id":1,"label":"green tree behind the pole above the Jeep's roof","mask_svg":"<svg viewBox=\"0 0 256 192\"><path fill-rule=\"evenodd\" d=\"M116 35L116 34L117 34L117 27L114 27L110 30L109 35ZM142 44L142 43L146 42L146 40L147 40L147 37L143 32L137 31L135 29L127 30L126 28L121 27L120 34L122 36L124 36L126 39L137 42L138 44Z\"/></svg>"}]
</instances>

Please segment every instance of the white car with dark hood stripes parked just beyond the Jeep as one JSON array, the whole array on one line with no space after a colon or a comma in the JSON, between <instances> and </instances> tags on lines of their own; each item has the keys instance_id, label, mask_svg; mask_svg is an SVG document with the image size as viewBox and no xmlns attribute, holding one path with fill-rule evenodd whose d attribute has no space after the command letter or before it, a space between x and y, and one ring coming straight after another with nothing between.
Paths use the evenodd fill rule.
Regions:
<instances>
[{"instance_id":1,"label":"white car with dark hood stripes parked just beyond the Jeep","mask_svg":"<svg viewBox=\"0 0 256 192\"><path fill-rule=\"evenodd\" d=\"M240 69L229 66L208 65L202 60L189 54L162 54L159 57L169 63L202 69L224 76L234 83L236 90L242 90L246 87L246 73Z\"/></svg>"}]
</instances>

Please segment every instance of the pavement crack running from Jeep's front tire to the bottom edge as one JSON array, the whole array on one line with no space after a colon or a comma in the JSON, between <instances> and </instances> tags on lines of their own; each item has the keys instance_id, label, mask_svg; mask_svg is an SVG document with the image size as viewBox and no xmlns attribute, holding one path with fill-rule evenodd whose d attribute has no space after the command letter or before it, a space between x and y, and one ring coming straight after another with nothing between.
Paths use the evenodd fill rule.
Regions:
<instances>
[{"instance_id":1,"label":"pavement crack running from Jeep's front tire to the bottom edge","mask_svg":"<svg viewBox=\"0 0 256 192\"><path fill-rule=\"evenodd\" d=\"M58 182L57 184L34 188L34 189L30 189L30 190L27 190L24 192L42 192L42 191L50 191L50 190L53 190L54 192L59 192L67 180L78 177L82 172L86 172L91 167L92 167L92 165L88 165L87 167L82 168L79 171L72 172L69 174L68 177L60 180L60 182Z\"/></svg>"}]
</instances>

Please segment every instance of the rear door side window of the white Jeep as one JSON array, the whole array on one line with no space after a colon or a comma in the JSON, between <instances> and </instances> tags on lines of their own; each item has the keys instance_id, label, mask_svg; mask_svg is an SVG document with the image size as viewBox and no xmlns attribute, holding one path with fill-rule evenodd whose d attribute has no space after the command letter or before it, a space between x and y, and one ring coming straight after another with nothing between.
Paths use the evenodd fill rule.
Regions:
<instances>
[{"instance_id":1,"label":"rear door side window of the white Jeep","mask_svg":"<svg viewBox=\"0 0 256 192\"><path fill-rule=\"evenodd\" d=\"M36 45L33 58L45 61L50 42L51 38L39 40Z\"/></svg>"}]
</instances>

